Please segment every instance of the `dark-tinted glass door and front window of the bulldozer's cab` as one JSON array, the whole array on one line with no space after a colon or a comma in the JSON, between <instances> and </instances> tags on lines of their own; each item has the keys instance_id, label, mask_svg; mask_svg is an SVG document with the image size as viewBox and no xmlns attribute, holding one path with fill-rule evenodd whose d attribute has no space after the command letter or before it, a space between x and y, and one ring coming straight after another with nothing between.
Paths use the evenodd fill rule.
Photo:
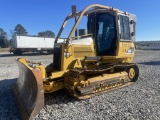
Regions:
<instances>
[{"instance_id":1,"label":"dark-tinted glass door and front window of the bulldozer's cab","mask_svg":"<svg viewBox=\"0 0 160 120\"><path fill-rule=\"evenodd\" d=\"M116 20L110 13L92 13L88 16L88 33L95 36L97 56L116 54Z\"/></svg>"}]
</instances>

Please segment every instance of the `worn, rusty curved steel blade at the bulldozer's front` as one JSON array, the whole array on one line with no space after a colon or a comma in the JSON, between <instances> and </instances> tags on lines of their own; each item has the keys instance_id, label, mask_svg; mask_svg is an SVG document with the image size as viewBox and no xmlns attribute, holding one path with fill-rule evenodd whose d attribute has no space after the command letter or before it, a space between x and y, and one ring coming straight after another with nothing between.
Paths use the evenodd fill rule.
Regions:
<instances>
[{"instance_id":1,"label":"worn, rusty curved steel blade at the bulldozer's front","mask_svg":"<svg viewBox=\"0 0 160 120\"><path fill-rule=\"evenodd\" d=\"M44 106L44 90L42 73L40 69L29 69L21 62L19 66L19 77L11 91L15 98L20 118L32 120Z\"/></svg>"}]
</instances>

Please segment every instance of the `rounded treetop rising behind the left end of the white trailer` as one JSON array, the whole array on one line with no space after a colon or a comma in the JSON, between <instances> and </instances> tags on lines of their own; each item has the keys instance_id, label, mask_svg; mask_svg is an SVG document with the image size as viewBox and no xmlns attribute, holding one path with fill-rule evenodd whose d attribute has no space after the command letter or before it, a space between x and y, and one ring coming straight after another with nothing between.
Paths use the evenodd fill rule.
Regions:
<instances>
[{"instance_id":1,"label":"rounded treetop rising behind the left end of the white trailer","mask_svg":"<svg viewBox=\"0 0 160 120\"><path fill-rule=\"evenodd\" d=\"M21 24L16 25L14 32L19 35L27 35L28 33Z\"/></svg>"}]
</instances>

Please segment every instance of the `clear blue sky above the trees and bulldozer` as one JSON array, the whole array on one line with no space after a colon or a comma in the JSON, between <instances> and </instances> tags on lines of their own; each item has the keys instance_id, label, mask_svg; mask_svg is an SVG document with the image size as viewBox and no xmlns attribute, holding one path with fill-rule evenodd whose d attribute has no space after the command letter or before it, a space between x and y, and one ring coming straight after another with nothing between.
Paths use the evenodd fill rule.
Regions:
<instances>
[{"instance_id":1,"label":"clear blue sky above the trees and bulldozer","mask_svg":"<svg viewBox=\"0 0 160 120\"><path fill-rule=\"evenodd\" d=\"M11 36L17 24L29 35L58 31L71 6L77 11L91 4L102 4L137 16L136 41L160 40L160 0L0 0L0 28Z\"/></svg>"}]
</instances>

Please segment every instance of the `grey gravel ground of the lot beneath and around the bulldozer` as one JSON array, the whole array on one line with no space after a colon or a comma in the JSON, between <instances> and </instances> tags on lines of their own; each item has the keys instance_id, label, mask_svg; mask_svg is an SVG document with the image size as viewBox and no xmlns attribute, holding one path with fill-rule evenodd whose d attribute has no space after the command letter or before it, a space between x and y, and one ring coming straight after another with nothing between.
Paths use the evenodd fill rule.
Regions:
<instances>
[{"instance_id":1,"label":"grey gravel ground of the lot beneath and around the bulldozer","mask_svg":"<svg viewBox=\"0 0 160 120\"><path fill-rule=\"evenodd\" d=\"M14 56L0 53L0 119L19 119L10 92L18 77L15 60L52 62L52 55ZM134 60L140 69L138 81L129 87L108 92L92 99L76 101L65 91L45 95L45 107L35 119L74 120L159 120L160 119L160 51L137 50Z\"/></svg>"}]
</instances>

